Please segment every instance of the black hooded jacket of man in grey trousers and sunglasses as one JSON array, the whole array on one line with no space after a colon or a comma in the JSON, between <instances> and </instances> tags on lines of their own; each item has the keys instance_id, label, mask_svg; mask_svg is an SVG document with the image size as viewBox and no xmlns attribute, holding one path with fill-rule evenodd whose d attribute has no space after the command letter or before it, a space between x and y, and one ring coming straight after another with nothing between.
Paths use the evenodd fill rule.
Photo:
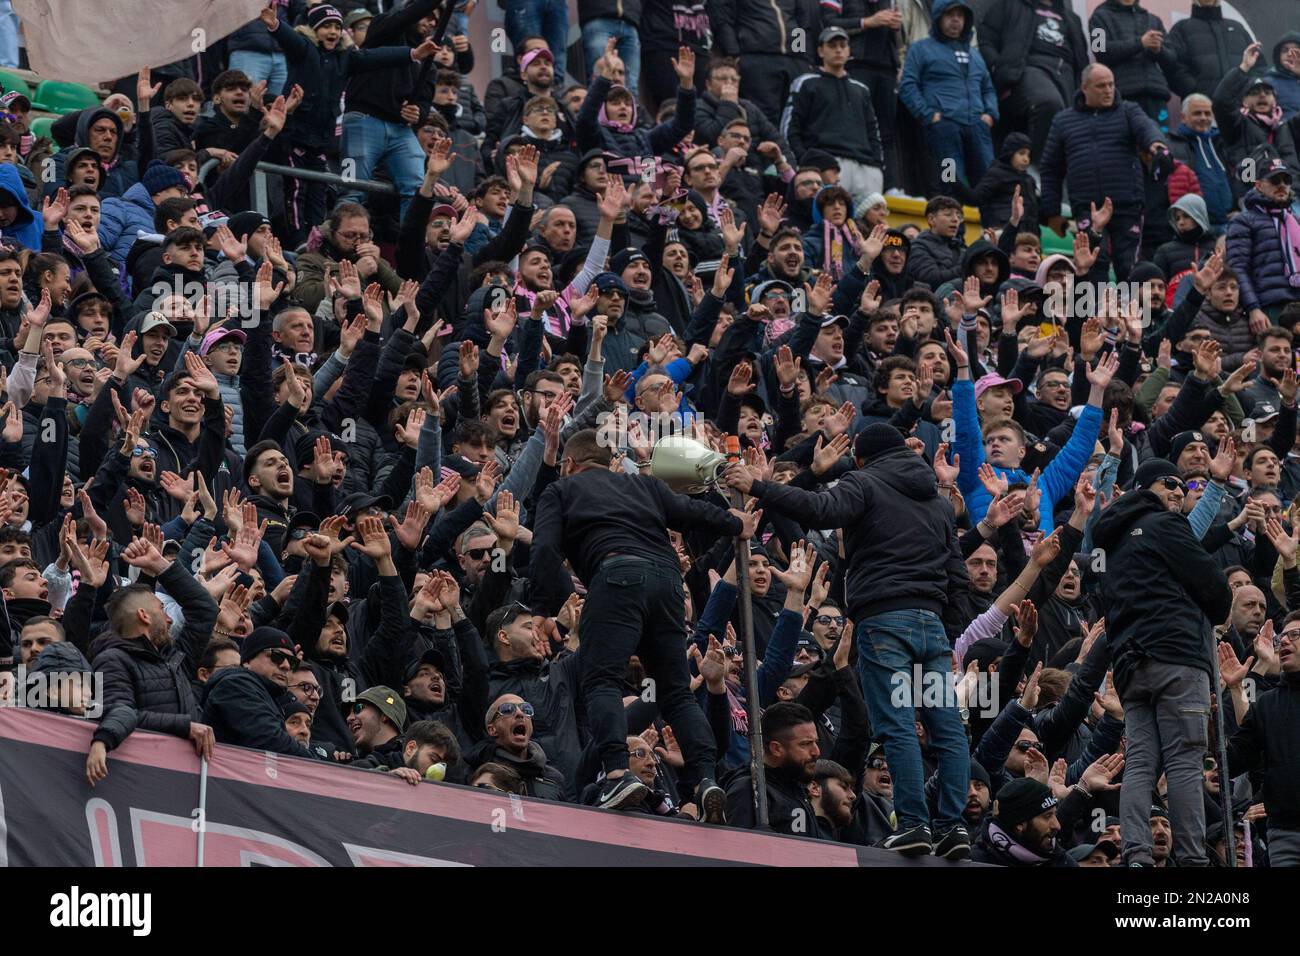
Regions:
<instances>
[{"instance_id":1,"label":"black hooded jacket of man in grey trousers and sunglasses","mask_svg":"<svg viewBox=\"0 0 1300 956\"><path fill-rule=\"evenodd\" d=\"M1101 597L1121 692L1144 658L1209 672L1209 626L1227 617L1232 594L1187 519L1152 492L1130 492L1102 512L1092 541L1106 553Z\"/></svg>"}]
</instances>

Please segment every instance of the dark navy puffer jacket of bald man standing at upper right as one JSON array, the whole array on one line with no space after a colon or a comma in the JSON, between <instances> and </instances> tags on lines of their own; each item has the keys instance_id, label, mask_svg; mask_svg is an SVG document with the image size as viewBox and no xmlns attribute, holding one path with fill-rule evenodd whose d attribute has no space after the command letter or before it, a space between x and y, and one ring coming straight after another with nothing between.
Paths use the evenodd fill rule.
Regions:
<instances>
[{"instance_id":1,"label":"dark navy puffer jacket of bald man standing at upper right","mask_svg":"<svg viewBox=\"0 0 1300 956\"><path fill-rule=\"evenodd\" d=\"M1052 120L1043 147L1039 170L1043 174L1043 202L1039 215L1061 215L1069 179L1070 206L1078 215L1088 203L1101 206L1110 196L1117 208L1147 202L1147 179L1138 159L1160 140L1160 129L1136 103L1115 96L1109 107L1093 109L1074 95L1074 105ZM915 243L913 243L915 248Z\"/></svg>"}]
</instances>

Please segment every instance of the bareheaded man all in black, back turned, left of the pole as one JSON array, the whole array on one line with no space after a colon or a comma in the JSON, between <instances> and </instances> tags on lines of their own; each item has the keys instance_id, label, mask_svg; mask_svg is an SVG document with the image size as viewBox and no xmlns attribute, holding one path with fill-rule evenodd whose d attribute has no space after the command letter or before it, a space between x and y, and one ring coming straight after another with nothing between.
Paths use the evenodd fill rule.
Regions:
<instances>
[{"instance_id":1,"label":"bareheaded man all in black, back turned, left of the pole","mask_svg":"<svg viewBox=\"0 0 1300 956\"><path fill-rule=\"evenodd\" d=\"M536 614L559 611L572 589L566 559L586 583L577 653L588 722L604 766L598 805L633 806L650 792L628 773L623 687L628 658L636 654L685 754L682 783L696 784L703 819L722 823L727 792L712 779L712 731L690 695L685 589L668 528L748 540L762 512L728 514L675 494L658 479L611 472L610 449L595 429L566 442L560 475L537 505L532 600Z\"/></svg>"}]
</instances>

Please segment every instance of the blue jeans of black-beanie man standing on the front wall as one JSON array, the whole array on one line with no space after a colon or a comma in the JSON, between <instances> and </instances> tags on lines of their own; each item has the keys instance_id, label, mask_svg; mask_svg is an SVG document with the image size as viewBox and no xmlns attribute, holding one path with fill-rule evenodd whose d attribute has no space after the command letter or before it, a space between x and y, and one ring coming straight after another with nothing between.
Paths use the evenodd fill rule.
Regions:
<instances>
[{"instance_id":1,"label":"blue jeans of black-beanie man standing on the front wall","mask_svg":"<svg viewBox=\"0 0 1300 956\"><path fill-rule=\"evenodd\" d=\"M935 830L941 832L961 823L971 757L962 719L950 697L953 648L942 620L932 611L888 611L857 622L854 636L859 641L858 676L871 727L884 743L893 777L898 829L930 825L918 719L939 754ZM915 685L918 675L920 687Z\"/></svg>"}]
</instances>

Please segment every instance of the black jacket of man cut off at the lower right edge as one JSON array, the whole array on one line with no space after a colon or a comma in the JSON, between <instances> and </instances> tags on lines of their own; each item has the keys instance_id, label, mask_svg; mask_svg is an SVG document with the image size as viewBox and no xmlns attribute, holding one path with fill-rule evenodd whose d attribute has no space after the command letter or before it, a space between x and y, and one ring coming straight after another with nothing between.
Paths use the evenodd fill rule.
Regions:
<instances>
[{"instance_id":1,"label":"black jacket of man cut off at the lower right edge","mask_svg":"<svg viewBox=\"0 0 1300 956\"><path fill-rule=\"evenodd\" d=\"M1231 775L1264 770L1269 825L1300 829L1300 675L1260 695L1227 741Z\"/></svg>"}]
</instances>

